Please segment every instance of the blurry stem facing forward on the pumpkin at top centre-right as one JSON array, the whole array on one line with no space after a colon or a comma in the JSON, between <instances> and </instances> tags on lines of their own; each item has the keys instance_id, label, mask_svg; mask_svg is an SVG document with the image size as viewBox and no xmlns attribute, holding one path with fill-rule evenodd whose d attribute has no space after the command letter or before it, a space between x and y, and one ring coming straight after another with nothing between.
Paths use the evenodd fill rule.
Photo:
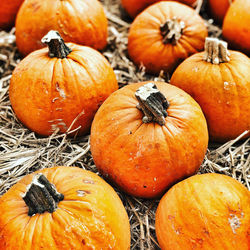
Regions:
<instances>
[{"instance_id":1,"label":"blurry stem facing forward on the pumpkin at top centre-right","mask_svg":"<svg viewBox=\"0 0 250 250\"><path fill-rule=\"evenodd\" d=\"M178 21L176 17L167 19L167 21L160 26L163 43L177 44L184 28L185 23L183 21Z\"/></svg>"}]
</instances>

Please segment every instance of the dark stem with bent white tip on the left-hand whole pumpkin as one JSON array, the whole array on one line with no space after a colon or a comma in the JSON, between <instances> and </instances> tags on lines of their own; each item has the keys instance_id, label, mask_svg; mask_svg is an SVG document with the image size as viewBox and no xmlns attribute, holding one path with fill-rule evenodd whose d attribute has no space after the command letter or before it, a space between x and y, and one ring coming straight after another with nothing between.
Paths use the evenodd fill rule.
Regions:
<instances>
[{"instance_id":1,"label":"dark stem with bent white tip on the left-hand whole pumpkin","mask_svg":"<svg viewBox=\"0 0 250 250\"><path fill-rule=\"evenodd\" d=\"M51 30L42 38L42 43L49 47L49 57L66 58L72 50L64 43L58 31Z\"/></svg>"}]
</instances>

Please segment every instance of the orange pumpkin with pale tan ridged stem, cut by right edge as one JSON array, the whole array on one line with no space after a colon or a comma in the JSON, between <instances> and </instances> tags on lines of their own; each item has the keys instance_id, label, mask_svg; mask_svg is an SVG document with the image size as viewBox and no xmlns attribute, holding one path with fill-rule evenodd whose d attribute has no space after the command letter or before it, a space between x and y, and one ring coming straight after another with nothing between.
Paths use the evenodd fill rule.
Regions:
<instances>
[{"instance_id":1,"label":"orange pumpkin with pale tan ridged stem, cut by right edge","mask_svg":"<svg viewBox=\"0 0 250 250\"><path fill-rule=\"evenodd\" d=\"M225 42L207 38L205 51L186 59L170 83L200 104L211 140L226 142L250 130L250 60Z\"/></svg>"}]
</instances>

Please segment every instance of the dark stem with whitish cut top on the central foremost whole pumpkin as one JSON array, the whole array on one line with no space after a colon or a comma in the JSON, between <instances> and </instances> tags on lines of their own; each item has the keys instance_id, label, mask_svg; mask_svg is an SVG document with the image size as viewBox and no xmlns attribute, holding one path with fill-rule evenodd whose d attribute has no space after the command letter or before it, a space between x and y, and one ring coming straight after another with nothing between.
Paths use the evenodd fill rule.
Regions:
<instances>
[{"instance_id":1,"label":"dark stem with whitish cut top on the central foremost whole pumpkin","mask_svg":"<svg viewBox=\"0 0 250 250\"><path fill-rule=\"evenodd\" d=\"M142 118L144 123L153 121L161 126L165 124L169 102L154 83L150 82L141 86L136 90L135 97L139 101L137 108L144 114Z\"/></svg>"}]
</instances>

